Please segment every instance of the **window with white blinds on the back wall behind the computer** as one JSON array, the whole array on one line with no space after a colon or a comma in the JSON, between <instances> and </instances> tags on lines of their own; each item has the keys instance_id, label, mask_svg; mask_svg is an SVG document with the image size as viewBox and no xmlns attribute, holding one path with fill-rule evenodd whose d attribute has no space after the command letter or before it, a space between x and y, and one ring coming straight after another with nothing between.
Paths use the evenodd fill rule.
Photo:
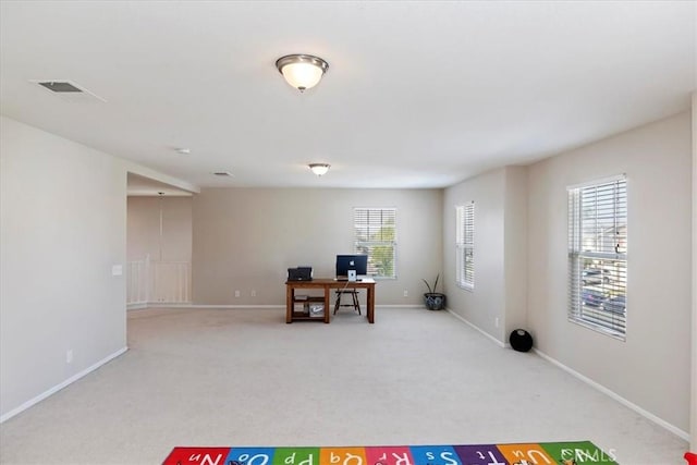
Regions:
<instances>
[{"instance_id":1,"label":"window with white blinds on the back wall behind the computer","mask_svg":"<svg viewBox=\"0 0 697 465\"><path fill-rule=\"evenodd\" d=\"M368 274L396 278L396 209L354 208L354 253L368 256Z\"/></svg>"}]
</instances>

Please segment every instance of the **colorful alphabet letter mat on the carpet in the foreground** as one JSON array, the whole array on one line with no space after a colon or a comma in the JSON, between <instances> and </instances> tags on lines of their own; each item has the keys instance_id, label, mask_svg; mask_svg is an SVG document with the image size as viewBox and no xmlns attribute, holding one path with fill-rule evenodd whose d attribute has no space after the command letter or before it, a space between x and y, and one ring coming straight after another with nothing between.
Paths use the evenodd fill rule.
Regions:
<instances>
[{"instance_id":1,"label":"colorful alphabet letter mat on the carpet in the foreground","mask_svg":"<svg viewBox=\"0 0 697 465\"><path fill-rule=\"evenodd\" d=\"M174 448L163 465L617 465L590 441L355 448Z\"/></svg>"}]
</instances>

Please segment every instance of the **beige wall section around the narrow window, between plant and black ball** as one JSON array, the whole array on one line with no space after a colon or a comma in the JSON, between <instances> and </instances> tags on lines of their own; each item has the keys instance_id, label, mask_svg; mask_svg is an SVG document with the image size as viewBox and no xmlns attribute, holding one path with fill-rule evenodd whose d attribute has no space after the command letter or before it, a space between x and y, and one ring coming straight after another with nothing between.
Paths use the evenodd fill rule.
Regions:
<instances>
[{"instance_id":1,"label":"beige wall section around the narrow window, between plant and black ball","mask_svg":"<svg viewBox=\"0 0 697 465\"><path fill-rule=\"evenodd\" d=\"M526 315L526 189L523 167L489 171L445 189L443 255L448 307L501 344ZM455 284L455 207L475 201L475 287Z\"/></svg>"}]
</instances>

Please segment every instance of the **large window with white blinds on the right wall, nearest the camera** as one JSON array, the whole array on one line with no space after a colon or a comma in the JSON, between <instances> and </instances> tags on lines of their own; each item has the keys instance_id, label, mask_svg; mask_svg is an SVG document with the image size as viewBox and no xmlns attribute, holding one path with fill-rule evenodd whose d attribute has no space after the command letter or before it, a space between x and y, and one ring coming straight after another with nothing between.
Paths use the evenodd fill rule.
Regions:
<instances>
[{"instance_id":1,"label":"large window with white blinds on the right wall, nearest the camera","mask_svg":"<svg viewBox=\"0 0 697 465\"><path fill-rule=\"evenodd\" d=\"M568 188L568 319L624 340L627 293L624 175Z\"/></svg>"}]
</instances>

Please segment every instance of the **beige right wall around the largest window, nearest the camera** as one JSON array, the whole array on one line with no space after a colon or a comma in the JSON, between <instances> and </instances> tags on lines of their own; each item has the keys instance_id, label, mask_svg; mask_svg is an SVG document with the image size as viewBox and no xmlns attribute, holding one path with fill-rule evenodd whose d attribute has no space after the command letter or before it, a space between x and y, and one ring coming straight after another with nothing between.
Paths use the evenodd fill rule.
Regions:
<instances>
[{"instance_id":1,"label":"beige right wall around the largest window, nearest the camera","mask_svg":"<svg viewBox=\"0 0 697 465\"><path fill-rule=\"evenodd\" d=\"M690 115L528 167L528 322L545 354L661 420L689 428ZM566 186L626 173L626 342L566 318Z\"/></svg>"}]
</instances>

